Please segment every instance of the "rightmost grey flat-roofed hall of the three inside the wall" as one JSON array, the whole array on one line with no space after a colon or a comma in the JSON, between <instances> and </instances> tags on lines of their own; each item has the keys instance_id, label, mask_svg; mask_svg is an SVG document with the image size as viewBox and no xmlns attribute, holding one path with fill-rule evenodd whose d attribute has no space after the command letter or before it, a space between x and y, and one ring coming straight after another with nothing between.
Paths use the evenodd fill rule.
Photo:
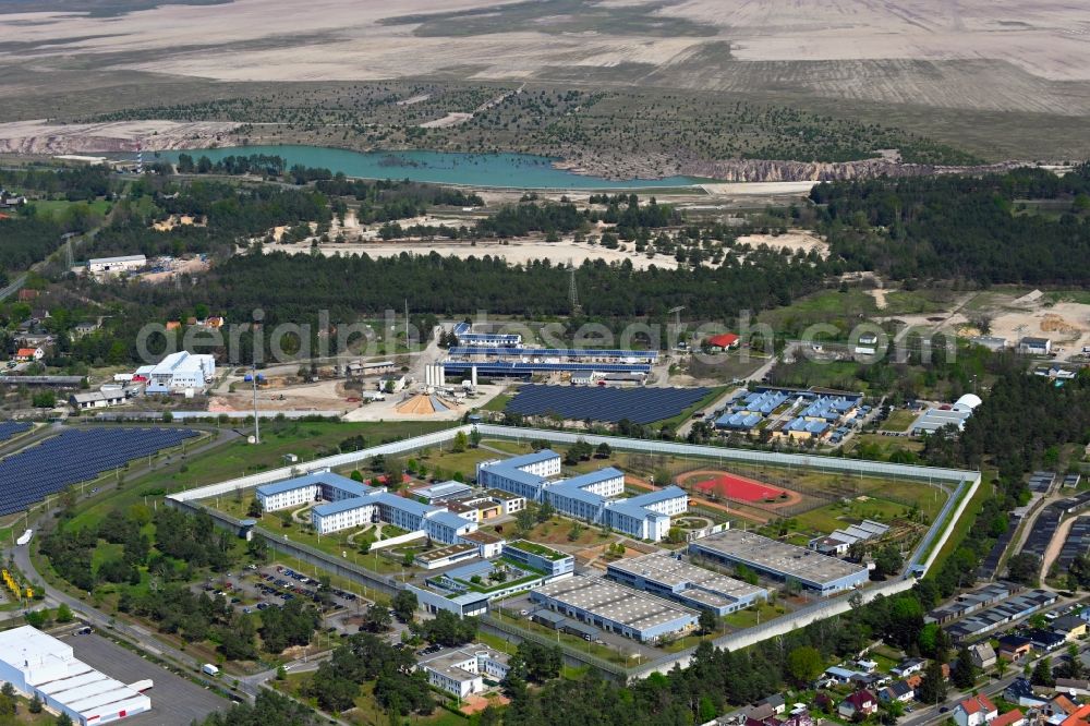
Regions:
<instances>
[{"instance_id":1,"label":"rightmost grey flat-roofed hall of the three inside the wall","mask_svg":"<svg viewBox=\"0 0 1090 726\"><path fill-rule=\"evenodd\" d=\"M728 565L744 565L765 577L797 582L822 595L867 583L867 568L752 532L725 530L689 543L689 554Z\"/></svg>"}]
</instances>

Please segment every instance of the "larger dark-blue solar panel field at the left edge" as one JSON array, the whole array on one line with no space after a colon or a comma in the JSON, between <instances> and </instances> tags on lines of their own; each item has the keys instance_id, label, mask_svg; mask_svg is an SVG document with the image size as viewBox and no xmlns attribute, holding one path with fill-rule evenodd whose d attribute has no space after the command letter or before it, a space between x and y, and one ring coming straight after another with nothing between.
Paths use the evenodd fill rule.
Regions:
<instances>
[{"instance_id":1,"label":"larger dark-blue solar panel field at the left edge","mask_svg":"<svg viewBox=\"0 0 1090 726\"><path fill-rule=\"evenodd\" d=\"M189 428L65 429L0 460L0 516L196 435Z\"/></svg>"}]
</instances>

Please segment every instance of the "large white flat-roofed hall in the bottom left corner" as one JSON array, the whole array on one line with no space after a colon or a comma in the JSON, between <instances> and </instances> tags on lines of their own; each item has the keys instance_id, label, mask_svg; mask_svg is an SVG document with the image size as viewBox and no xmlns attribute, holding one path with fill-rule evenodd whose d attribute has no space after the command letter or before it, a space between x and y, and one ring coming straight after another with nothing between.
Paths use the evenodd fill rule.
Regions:
<instances>
[{"instance_id":1,"label":"large white flat-roofed hall in the bottom left corner","mask_svg":"<svg viewBox=\"0 0 1090 726\"><path fill-rule=\"evenodd\" d=\"M78 726L152 710L152 700L75 657L72 646L31 626L0 632L0 681L68 714Z\"/></svg>"}]
</instances>

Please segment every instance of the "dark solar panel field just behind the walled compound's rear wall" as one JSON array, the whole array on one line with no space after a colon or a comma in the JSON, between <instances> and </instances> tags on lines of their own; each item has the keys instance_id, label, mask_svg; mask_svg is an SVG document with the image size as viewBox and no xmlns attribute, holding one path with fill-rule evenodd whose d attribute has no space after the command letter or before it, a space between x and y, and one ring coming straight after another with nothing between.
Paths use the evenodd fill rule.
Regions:
<instances>
[{"instance_id":1,"label":"dark solar panel field just behind the walled compound's rear wall","mask_svg":"<svg viewBox=\"0 0 1090 726\"><path fill-rule=\"evenodd\" d=\"M647 424L673 419L712 391L711 388L583 388L528 385L507 404L510 413L557 414L564 419L628 420Z\"/></svg>"}]
</instances>

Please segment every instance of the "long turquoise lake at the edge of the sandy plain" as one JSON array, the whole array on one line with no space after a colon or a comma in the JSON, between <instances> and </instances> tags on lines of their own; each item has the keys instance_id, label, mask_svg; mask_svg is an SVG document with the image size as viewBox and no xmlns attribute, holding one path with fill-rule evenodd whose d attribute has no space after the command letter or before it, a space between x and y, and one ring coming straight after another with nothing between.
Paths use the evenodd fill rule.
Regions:
<instances>
[{"instance_id":1,"label":"long turquoise lake at the edge of the sandy plain","mask_svg":"<svg viewBox=\"0 0 1090 726\"><path fill-rule=\"evenodd\" d=\"M410 179L468 186L518 189L647 189L688 186L700 180L690 177L615 181L586 177L553 168L555 159L530 154L458 154L448 152L349 152L324 146L233 146L159 152L152 155L177 161L179 154L194 159L207 156L218 161L227 156L265 154L279 156L288 166L329 169L360 179ZM147 157L145 157L147 158Z\"/></svg>"}]
</instances>

